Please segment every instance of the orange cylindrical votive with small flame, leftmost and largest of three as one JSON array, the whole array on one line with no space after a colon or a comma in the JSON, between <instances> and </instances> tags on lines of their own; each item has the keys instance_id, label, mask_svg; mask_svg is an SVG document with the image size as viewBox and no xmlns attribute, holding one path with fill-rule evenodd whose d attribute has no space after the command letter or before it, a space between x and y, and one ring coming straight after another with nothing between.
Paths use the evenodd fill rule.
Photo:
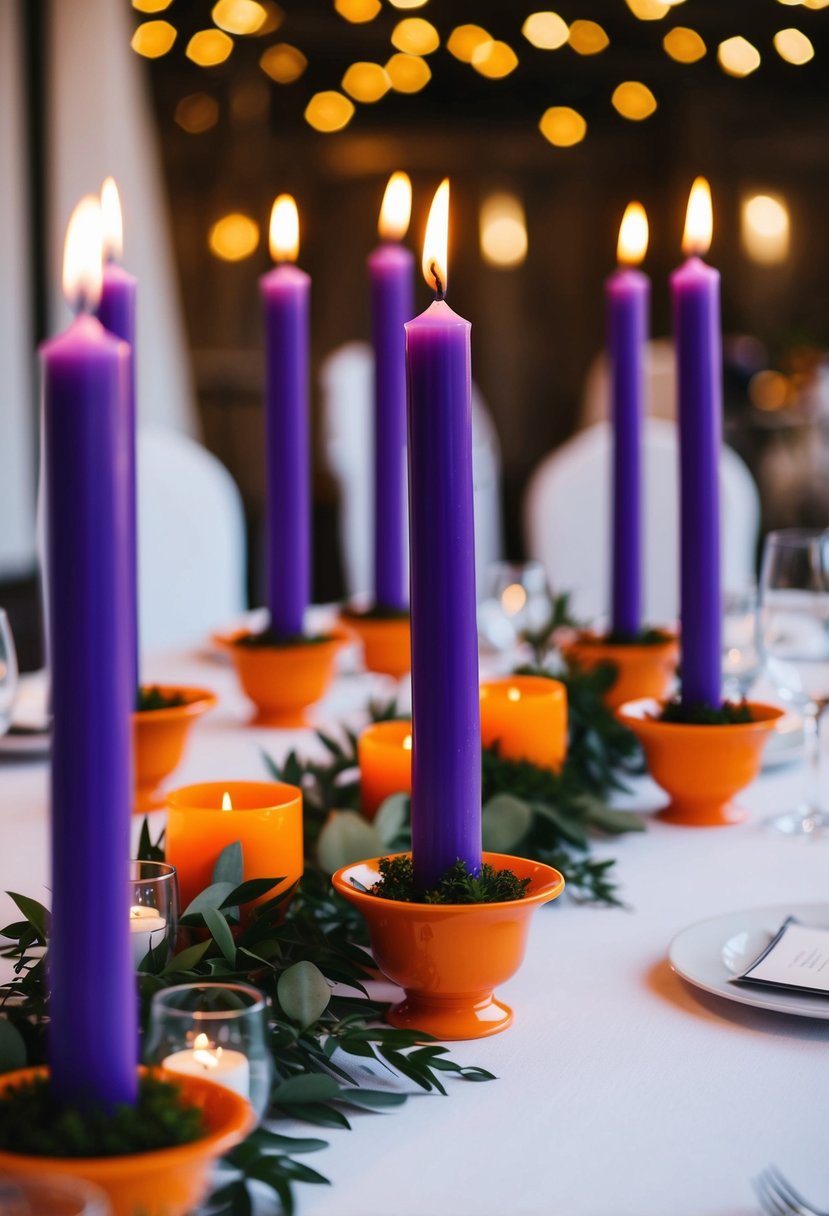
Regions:
<instances>
[{"instance_id":1,"label":"orange cylindrical votive with small flame, leftmost and largest of three","mask_svg":"<svg viewBox=\"0 0 829 1216\"><path fill-rule=\"evenodd\" d=\"M222 810L225 794L231 809ZM303 877L303 792L275 781L185 786L167 796L165 856L179 877L181 911L210 885L221 850L242 845L244 882L282 878L255 902L273 899Z\"/></svg>"}]
</instances>

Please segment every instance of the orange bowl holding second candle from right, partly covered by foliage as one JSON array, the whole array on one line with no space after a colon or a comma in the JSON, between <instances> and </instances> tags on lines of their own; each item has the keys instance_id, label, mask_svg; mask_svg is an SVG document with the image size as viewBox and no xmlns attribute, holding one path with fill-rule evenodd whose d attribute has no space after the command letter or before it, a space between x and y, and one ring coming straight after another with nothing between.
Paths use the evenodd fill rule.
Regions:
<instances>
[{"instance_id":1,"label":"orange bowl holding second candle from right, partly covered by foliage","mask_svg":"<svg viewBox=\"0 0 829 1216\"><path fill-rule=\"evenodd\" d=\"M610 709L617 709L627 700L653 697L666 700L679 663L679 641L665 631L664 642L648 646L636 643L605 642L600 634L580 630L575 640L562 646L562 654L585 671L592 671L602 663L611 663L616 680L604 696Z\"/></svg>"}]
</instances>

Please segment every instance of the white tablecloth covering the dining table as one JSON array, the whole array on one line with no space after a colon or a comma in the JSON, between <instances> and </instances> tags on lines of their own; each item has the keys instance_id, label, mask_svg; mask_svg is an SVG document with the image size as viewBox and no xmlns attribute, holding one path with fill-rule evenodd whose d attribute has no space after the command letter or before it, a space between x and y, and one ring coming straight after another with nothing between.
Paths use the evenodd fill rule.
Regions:
<instances>
[{"instance_id":1,"label":"white tablecloth covering the dining table","mask_svg":"<svg viewBox=\"0 0 829 1216\"><path fill-rule=\"evenodd\" d=\"M216 659L156 655L145 679L220 696L174 784L264 778L261 748L321 750L311 732L248 726L233 676ZM340 676L317 724L359 724L380 687L376 677ZM498 1080L450 1081L447 1098L414 1096L389 1114L350 1115L351 1132L323 1132L331 1147L309 1161L333 1186L300 1187L299 1216L750 1216L750 1178L769 1161L829 1205L829 1021L707 996L666 957L671 939L698 921L829 900L829 840L762 827L805 781L802 764L765 773L743 795L751 817L739 827L654 821L644 834L598 844L598 856L617 860L627 906L565 896L542 908L520 973L498 992L514 1007L513 1026L451 1045L455 1059ZM626 805L653 811L661 800L643 781ZM47 902L45 761L0 761L0 891ZM13 919L5 894L0 916Z\"/></svg>"}]
</instances>

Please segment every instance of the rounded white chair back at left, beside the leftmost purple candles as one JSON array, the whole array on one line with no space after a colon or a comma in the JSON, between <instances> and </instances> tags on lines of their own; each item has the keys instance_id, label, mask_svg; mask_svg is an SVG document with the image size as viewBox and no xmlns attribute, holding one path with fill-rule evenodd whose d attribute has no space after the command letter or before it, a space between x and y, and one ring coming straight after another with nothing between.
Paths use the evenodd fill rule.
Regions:
<instances>
[{"instance_id":1,"label":"rounded white chair back at left, beside the leftmost purple candles","mask_svg":"<svg viewBox=\"0 0 829 1216\"><path fill-rule=\"evenodd\" d=\"M246 608L242 496L201 444L141 427L137 499L141 648L198 644Z\"/></svg>"}]
</instances>

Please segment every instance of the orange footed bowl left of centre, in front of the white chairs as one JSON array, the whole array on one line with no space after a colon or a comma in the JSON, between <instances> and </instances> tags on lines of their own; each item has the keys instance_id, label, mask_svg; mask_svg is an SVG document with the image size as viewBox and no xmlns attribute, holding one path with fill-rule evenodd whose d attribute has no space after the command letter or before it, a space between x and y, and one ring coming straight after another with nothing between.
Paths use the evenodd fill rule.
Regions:
<instances>
[{"instance_id":1,"label":"orange footed bowl left of centre, in front of the white chairs","mask_svg":"<svg viewBox=\"0 0 829 1216\"><path fill-rule=\"evenodd\" d=\"M230 654L236 675L256 706L258 726L308 726L305 710L323 696L334 671L337 652L351 641L342 627L328 630L323 641L298 646L238 646L247 630L215 641Z\"/></svg>"}]
</instances>

